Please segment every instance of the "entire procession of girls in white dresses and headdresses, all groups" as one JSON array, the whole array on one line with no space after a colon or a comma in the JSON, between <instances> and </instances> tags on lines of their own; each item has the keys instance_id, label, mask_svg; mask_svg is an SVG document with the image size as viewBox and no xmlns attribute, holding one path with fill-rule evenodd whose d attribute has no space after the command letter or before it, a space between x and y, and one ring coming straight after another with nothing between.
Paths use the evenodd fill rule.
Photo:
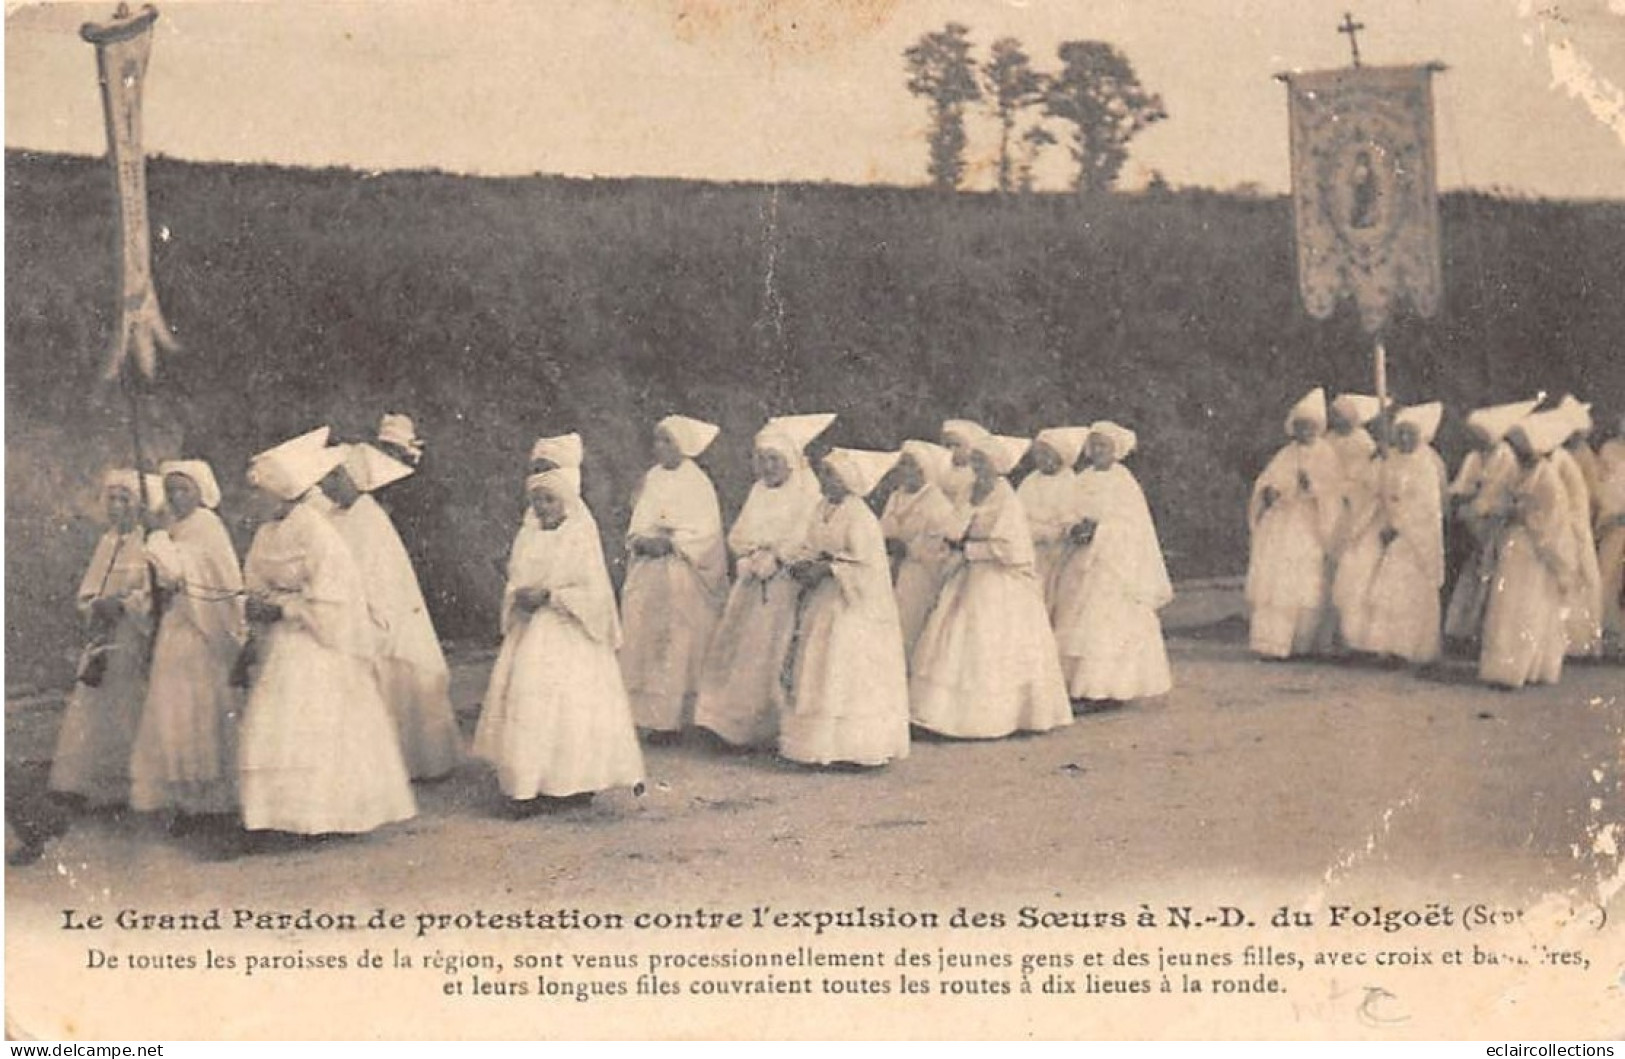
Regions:
<instances>
[{"instance_id":1,"label":"entire procession of girls in white dresses and headdresses, all groups","mask_svg":"<svg viewBox=\"0 0 1625 1059\"><path fill-rule=\"evenodd\" d=\"M1422 666L1456 642L1500 687L1618 650L1625 437L1592 452L1589 406L1539 403L1469 414L1476 448L1450 479L1432 447L1440 404L1298 401L1246 512L1251 650ZM1159 611L1173 588L1124 465L1133 430L1027 440L952 419L938 442L809 460L834 419L757 432L756 484L726 531L697 463L718 429L663 419L619 603L582 500L582 439L538 440L468 749L416 573L372 497L413 473L408 417L385 416L375 445L330 443L323 427L260 453L240 567L208 463L112 471L50 788L164 812L176 830L236 817L361 833L413 817L413 781L470 752L528 815L640 789L642 744L691 729L879 767L907 757L912 733L1045 733L1089 703L1172 689ZM1472 544L1448 596L1446 523Z\"/></svg>"}]
</instances>

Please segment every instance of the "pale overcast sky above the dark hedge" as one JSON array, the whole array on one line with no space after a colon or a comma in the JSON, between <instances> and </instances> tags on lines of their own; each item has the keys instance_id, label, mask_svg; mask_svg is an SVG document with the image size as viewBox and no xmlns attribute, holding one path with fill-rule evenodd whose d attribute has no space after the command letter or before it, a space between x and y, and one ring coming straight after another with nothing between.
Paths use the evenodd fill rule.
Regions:
<instances>
[{"instance_id":1,"label":"pale overcast sky above the dark hedge","mask_svg":"<svg viewBox=\"0 0 1625 1059\"><path fill-rule=\"evenodd\" d=\"M91 45L112 2L8 3L5 143L104 149ZM902 50L949 19L985 55L1116 44L1170 119L1124 184L1284 190L1271 75L1441 60L1445 187L1625 198L1625 0L232 0L159 3L151 153L361 169L925 182ZM973 185L993 179L975 119ZM1064 182L1051 148L1045 182Z\"/></svg>"}]
</instances>

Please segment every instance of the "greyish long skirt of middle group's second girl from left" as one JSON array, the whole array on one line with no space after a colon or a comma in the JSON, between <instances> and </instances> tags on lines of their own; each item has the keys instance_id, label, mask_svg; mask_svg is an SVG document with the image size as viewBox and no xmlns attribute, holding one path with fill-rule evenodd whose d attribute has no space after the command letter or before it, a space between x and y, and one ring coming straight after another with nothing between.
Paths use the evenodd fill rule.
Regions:
<instances>
[{"instance_id":1,"label":"greyish long skirt of middle group's second girl from left","mask_svg":"<svg viewBox=\"0 0 1625 1059\"><path fill-rule=\"evenodd\" d=\"M696 724L738 747L765 747L778 739L785 655L795 630L798 593L800 585L785 575L765 583L733 583L705 655L694 703Z\"/></svg>"}]
</instances>

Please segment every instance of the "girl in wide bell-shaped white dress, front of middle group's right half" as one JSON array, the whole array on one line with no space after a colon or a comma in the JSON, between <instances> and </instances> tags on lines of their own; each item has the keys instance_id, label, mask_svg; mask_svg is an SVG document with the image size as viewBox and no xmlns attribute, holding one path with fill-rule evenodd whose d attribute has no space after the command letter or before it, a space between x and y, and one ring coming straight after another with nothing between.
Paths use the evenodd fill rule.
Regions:
<instances>
[{"instance_id":1,"label":"girl in wide bell-shaped white dress, front of middle group's right half","mask_svg":"<svg viewBox=\"0 0 1625 1059\"><path fill-rule=\"evenodd\" d=\"M1024 439L972 448L970 525L915 645L913 723L956 739L999 739L1072 723L1072 703L1034 577L1032 534L1006 474Z\"/></svg>"}]
</instances>

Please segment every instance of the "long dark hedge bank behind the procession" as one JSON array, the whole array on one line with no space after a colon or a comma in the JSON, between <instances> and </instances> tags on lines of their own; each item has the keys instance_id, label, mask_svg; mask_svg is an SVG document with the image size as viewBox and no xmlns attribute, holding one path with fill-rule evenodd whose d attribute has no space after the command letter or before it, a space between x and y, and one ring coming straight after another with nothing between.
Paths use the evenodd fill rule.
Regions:
<instances>
[{"instance_id":1,"label":"long dark hedge bank behind the procession","mask_svg":"<svg viewBox=\"0 0 1625 1059\"><path fill-rule=\"evenodd\" d=\"M832 443L1113 417L1176 577L1245 567L1248 482L1308 387L1370 388L1352 313L1308 320L1290 206L1214 192L999 198L835 185L473 179L150 166L154 270L185 344L146 393L154 455L208 458L247 544L242 468L406 411L429 442L421 577L442 633L494 640L530 442L580 429L618 554L650 424L722 424L731 520L749 437L838 411ZM94 481L128 461L99 159L6 154L8 684L60 684ZM1401 400L1625 396L1625 205L1445 200L1446 307L1388 338ZM1604 419L1607 421L1607 419ZM1440 445L1454 460L1459 424ZM405 486L405 484L403 484ZM396 487L401 489L401 487Z\"/></svg>"}]
</instances>

